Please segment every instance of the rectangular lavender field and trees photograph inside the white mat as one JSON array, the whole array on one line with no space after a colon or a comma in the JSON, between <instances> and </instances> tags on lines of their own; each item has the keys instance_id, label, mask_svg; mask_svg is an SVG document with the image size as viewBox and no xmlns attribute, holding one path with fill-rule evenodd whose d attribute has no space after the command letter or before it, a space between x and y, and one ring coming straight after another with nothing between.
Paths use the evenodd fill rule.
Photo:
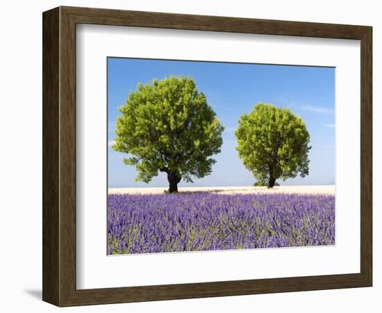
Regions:
<instances>
[{"instance_id":1,"label":"rectangular lavender field and trees photograph inside the white mat","mask_svg":"<svg viewBox=\"0 0 382 313\"><path fill-rule=\"evenodd\" d=\"M107 255L335 245L335 67L107 58Z\"/></svg>"}]
</instances>

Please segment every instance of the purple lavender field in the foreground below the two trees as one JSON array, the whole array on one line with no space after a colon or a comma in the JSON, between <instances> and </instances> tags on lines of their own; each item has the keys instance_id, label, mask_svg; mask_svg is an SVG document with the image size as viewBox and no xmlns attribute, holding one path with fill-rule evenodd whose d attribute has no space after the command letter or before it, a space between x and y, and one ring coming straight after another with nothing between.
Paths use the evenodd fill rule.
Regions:
<instances>
[{"instance_id":1,"label":"purple lavender field in the foreground below the two trees","mask_svg":"<svg viewBox=\"0 0 382 313\"><path fill-rule=\"evenodd\" d=\"M333 195L108 195L108 254L332 245Z\"/></svg>"}]
</instances>

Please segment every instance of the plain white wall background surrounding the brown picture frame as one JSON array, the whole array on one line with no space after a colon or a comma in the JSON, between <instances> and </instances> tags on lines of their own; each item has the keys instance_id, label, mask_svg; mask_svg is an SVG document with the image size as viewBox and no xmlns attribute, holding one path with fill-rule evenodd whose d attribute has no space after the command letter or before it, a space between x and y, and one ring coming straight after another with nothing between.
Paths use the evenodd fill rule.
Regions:
<instances>
[{"instance_id":1,"label":"plain white wall background surrounding the brown picture frame","mask_svg":"<svg viewBox=\"0 0 382 313\"><path fill-rule=\"evenodd\" d=\"M42 11L92 6L374 27L374 287L72 307L67 312L379 312L382 307L382 19L379 1L7 1L0 10L0 308L56 312L42 288Z\"/></svg>"}]
</instances>

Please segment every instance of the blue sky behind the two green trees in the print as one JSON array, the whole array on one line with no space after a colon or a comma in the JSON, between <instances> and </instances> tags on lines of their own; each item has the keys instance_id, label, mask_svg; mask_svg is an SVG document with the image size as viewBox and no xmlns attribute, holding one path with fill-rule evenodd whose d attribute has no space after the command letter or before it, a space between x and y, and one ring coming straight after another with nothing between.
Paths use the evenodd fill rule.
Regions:
<instances>
[{"instance_id":1,"label":"blue sky behind the two green trees in the print","mask_svg":"<svg viewBox=\"0 0 382 313\"><path fill-rule=\"evenodd\" d=\"M288 107L301 116L310 133L310 174L296 177L281 185L319 185L335 182L335 69L215 63L195 61L108 58L108 187L168 186L167 177L159 173L149 184L135 182L137 172L125 166L126 154L115 152L110 145L115 137L118 108L125 104L137 83L149 83L170 75L193 77L199 91L226 127L222 152L215 155L213 172L194 184L181 181L178 186L251 186L255 179L244 168L235 150L233 131L240 115L250 112L258 102Z\"/></svg>"}]
</instances>

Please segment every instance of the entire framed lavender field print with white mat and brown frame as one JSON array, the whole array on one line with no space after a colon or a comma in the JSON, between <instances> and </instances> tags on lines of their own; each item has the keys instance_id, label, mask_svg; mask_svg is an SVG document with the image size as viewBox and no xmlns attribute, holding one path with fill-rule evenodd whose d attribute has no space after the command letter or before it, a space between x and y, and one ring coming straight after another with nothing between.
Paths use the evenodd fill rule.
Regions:
<instances>
[{"instance_id":1,"label":"entire framed lavender field print with white mat and brown frame","mask_svg":"<svg viewBox=\"0 0 382 313\"><path fill-rule=\"evenodd\" d=\"M43 300L368 286L372 27L43 13Z\"/></svg>"}]
</instances>

